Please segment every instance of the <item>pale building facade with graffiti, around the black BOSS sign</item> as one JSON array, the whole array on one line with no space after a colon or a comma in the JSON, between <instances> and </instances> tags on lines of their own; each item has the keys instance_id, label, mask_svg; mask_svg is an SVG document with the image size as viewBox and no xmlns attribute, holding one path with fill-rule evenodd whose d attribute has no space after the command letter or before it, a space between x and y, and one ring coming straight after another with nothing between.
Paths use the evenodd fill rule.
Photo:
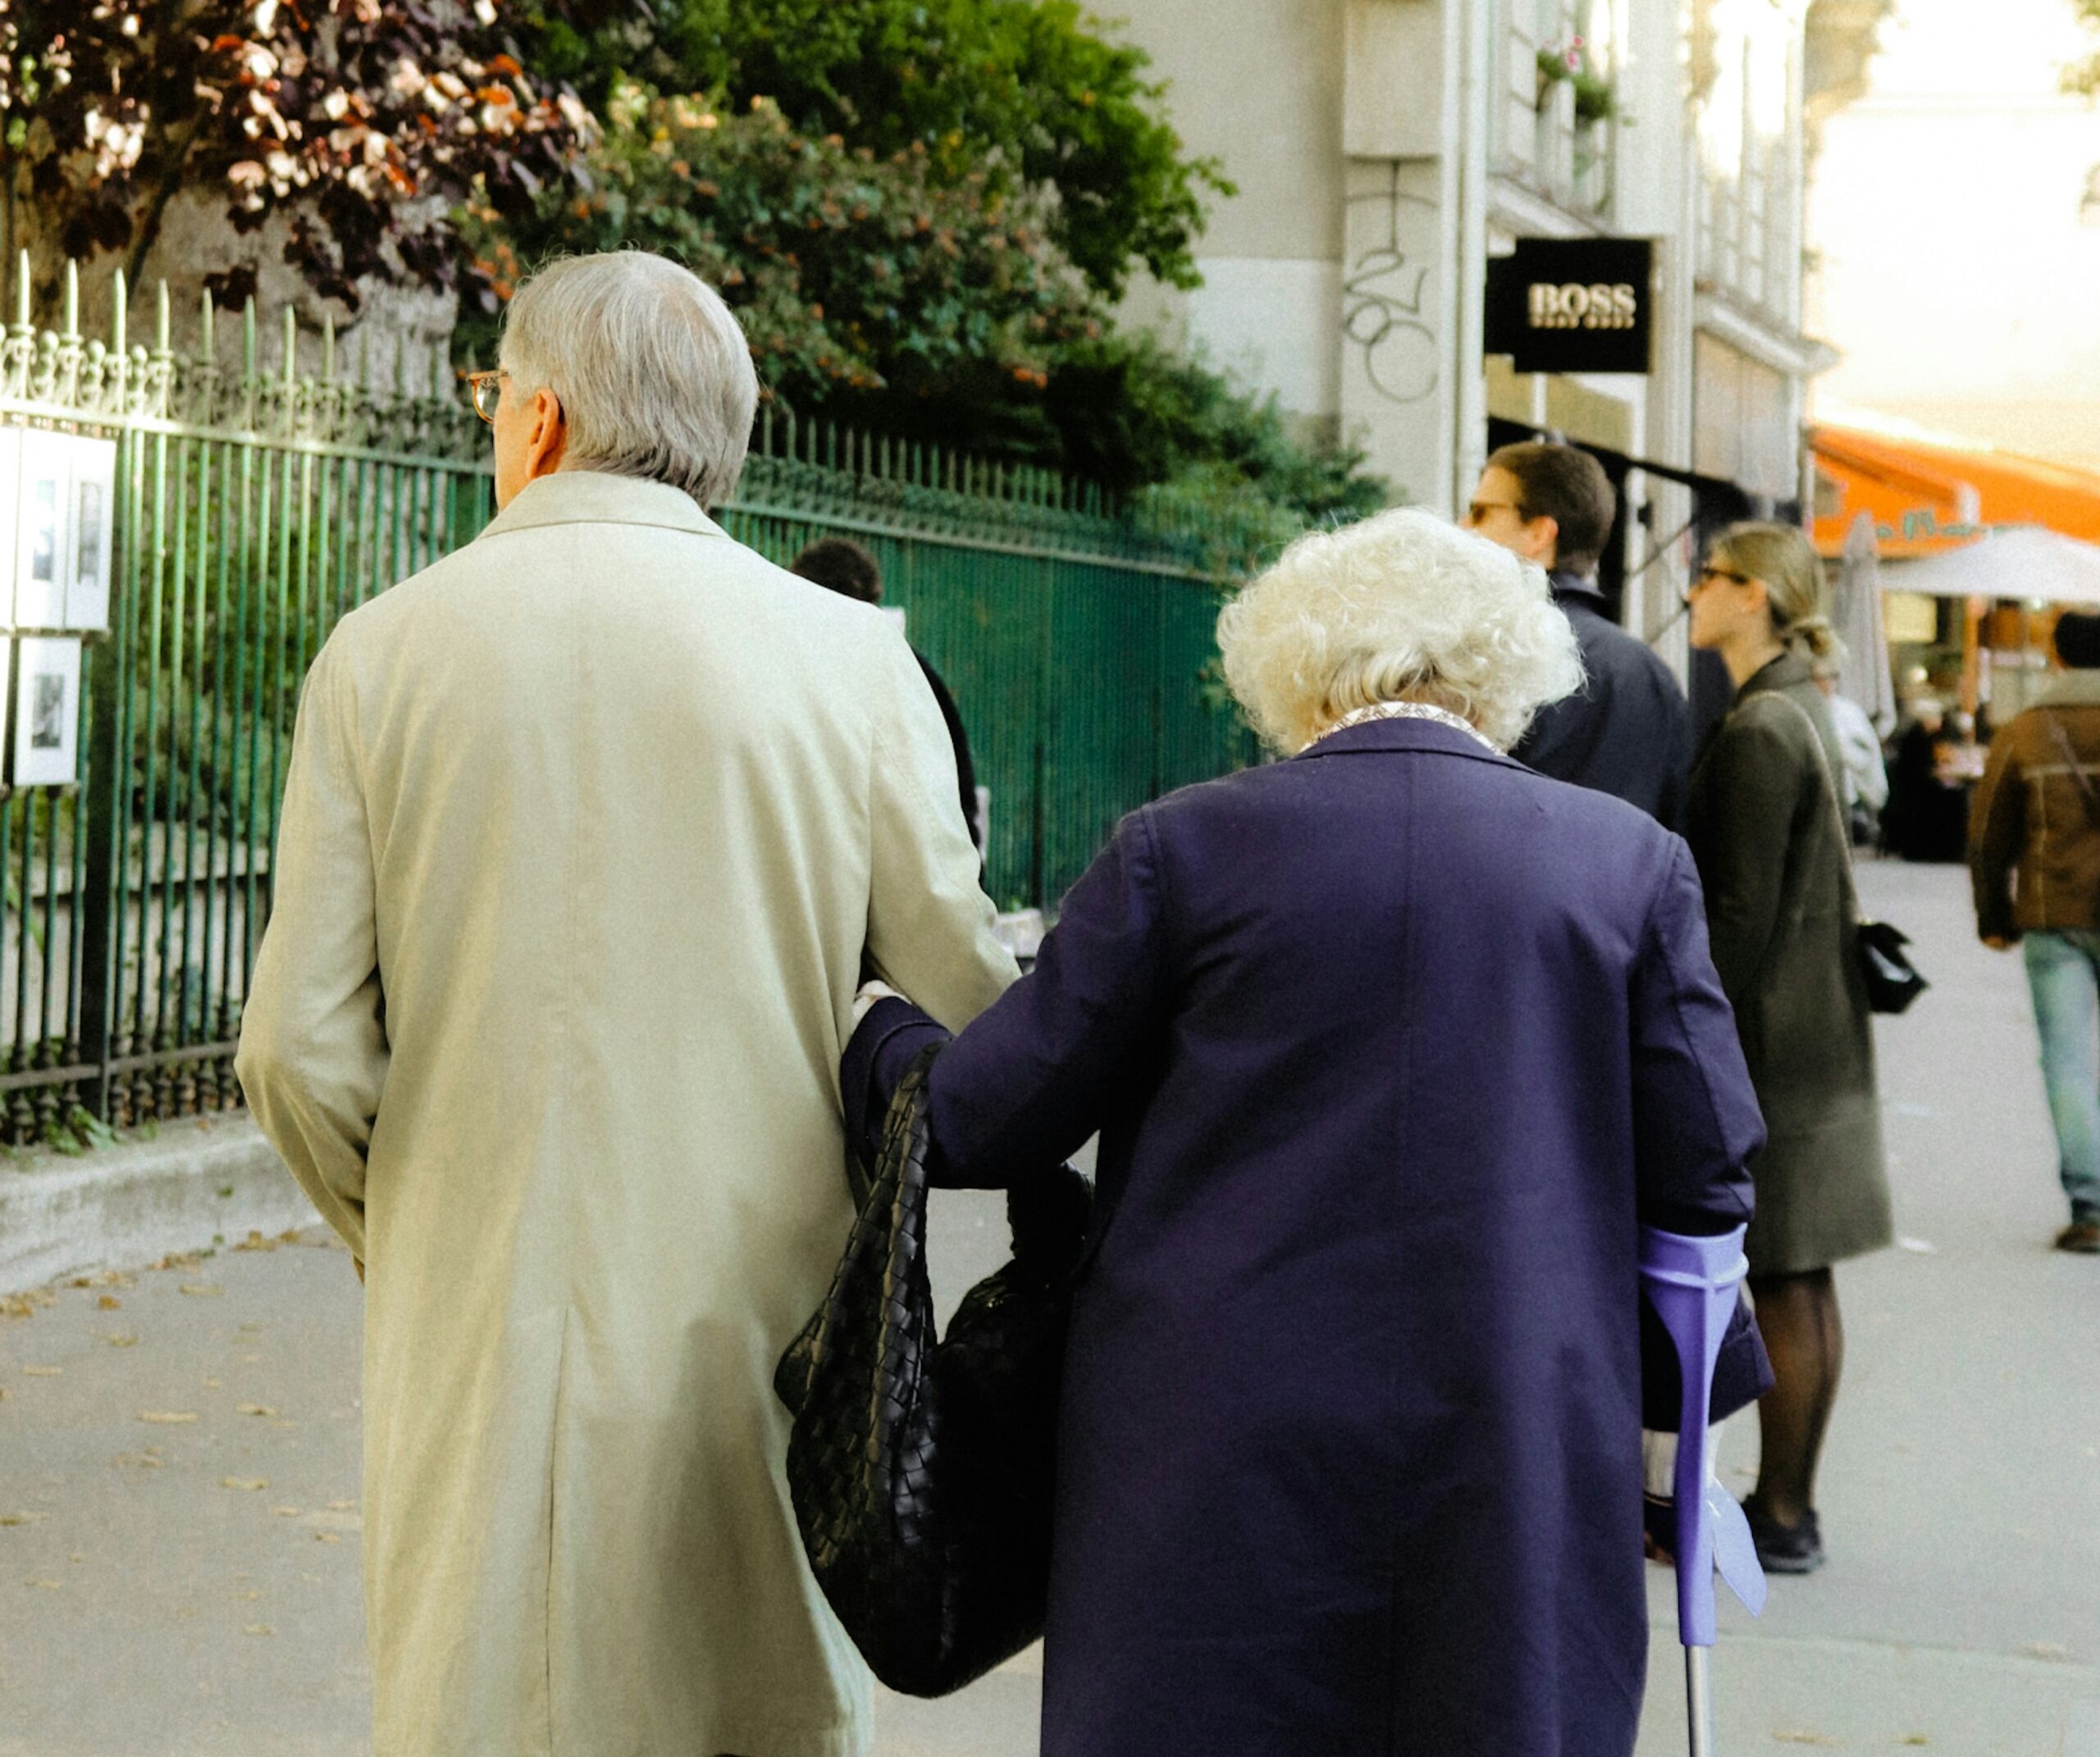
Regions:
<instances>
[{"instance_id":1,"label":"pale building facade with graffiti, around the black BOSS sign","mask_svg":"<svg viewBox=\"0 0 2100 1757\"><path fill-rule=\"evenodd\" d=\"M1800 502L1804 393L1831 359L1802 332L1810 63L1835 84L1880 0L1119 10L1186 145L1239 187L1203 288L1140 290L1132 315L1363 443L1413 504L1464 506L1504 437L1600 449L1628 502L1609 584L1672 651L1695 521ZM1577 237L1653 241L1648 374L1487 355L1489 260Z\"/></svg>"}]
</instances>

